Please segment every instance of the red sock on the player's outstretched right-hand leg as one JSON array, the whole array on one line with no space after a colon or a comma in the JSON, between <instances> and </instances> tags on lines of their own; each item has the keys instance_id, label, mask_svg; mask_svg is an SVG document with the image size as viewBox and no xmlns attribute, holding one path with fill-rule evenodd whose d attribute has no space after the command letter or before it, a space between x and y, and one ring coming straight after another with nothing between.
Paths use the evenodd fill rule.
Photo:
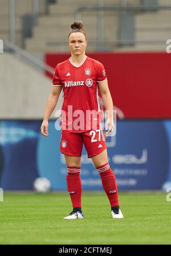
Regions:
<instances>
[{"instance_id":1,"label":"red sock on the player's outstretched right-hand leg","mask_svg":"<svg viewBox=\"0 0 171 256\"><path fill-rule=\"evenodd\" d=\"M117 205L119 206L116 178L108 162L98 167L97 171L100 173L101 182L102 182L104 191L109 198L111 207L117 206Z\"/></svg>"}]
</instances>

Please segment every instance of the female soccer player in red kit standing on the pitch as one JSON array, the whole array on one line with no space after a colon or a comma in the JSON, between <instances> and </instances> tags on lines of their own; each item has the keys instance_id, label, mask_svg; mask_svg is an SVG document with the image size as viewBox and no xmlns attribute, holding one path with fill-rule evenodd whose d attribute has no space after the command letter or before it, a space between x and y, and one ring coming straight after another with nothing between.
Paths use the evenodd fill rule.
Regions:
<instances>
[{"instance_id":1,"label":"female soccer player in red kit standing on the pitch","mask_svg":"<svg viewBox=\"0 0 171 256\"><path fill-rule=\"evenodd\" d=\"M64 219L84 218L80 180L83 143L88 157L91 157L100 174L103 188L111 204L112 217L123 218L119 207L116 178L108 163L99 116L95 115L100 112L99 90L104 107L109 113L106 122L107 133L113 131L113 102L104 66L86 56L87 38L82 22L72 23L68 44L71 57L55 67L53 86L48 96L41 126L42 135L48 136L48 119L63 89L60 152L64 154L66 160L67 189L73 206L73 211ZM92 111L92 115L89 115L89 111Z\"/></svg>"}]
</instances>

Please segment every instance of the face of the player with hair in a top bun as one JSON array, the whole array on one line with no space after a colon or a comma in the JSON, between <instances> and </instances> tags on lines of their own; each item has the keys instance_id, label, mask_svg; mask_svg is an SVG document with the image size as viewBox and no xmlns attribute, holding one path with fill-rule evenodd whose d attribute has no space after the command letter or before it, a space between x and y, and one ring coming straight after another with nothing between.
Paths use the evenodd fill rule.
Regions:
<instances>
[{"instance_id":1,"label":"face of the player with hair in a top bun","mask_svg":"<svg viewBox=\"0 0 171 256\"><path fill-rule=\"evenodd\" d=\"M85 35L81 32L73 32L68 38L71 54L76 56L85 54L87 47L87 40Z\"/></svg>"}]
</instances>

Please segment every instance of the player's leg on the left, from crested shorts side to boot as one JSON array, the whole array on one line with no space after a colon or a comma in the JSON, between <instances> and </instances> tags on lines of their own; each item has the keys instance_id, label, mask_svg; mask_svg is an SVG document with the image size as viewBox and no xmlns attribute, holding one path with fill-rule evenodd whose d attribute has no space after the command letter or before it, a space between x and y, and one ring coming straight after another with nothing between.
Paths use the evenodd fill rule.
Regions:
<instances>
[{"instance_id":1,"label":"player's leg on the left, from crested shorts side to boot","mask_svg":"<svg viewBox=\"0 0 171 256\"><path fill-rule=\"evenodd\" d=\"M66 144L64 144L64 142ZM74 143L73 143L74 142ZM64 147L62 147L64 145ZM65 219L84 218L82 213L82 182L80 166L83 141L78 133L62 131L60 151L64 154L67 165L67 190L70 194L73 211Z\"/></svg>"}]
</instances>

